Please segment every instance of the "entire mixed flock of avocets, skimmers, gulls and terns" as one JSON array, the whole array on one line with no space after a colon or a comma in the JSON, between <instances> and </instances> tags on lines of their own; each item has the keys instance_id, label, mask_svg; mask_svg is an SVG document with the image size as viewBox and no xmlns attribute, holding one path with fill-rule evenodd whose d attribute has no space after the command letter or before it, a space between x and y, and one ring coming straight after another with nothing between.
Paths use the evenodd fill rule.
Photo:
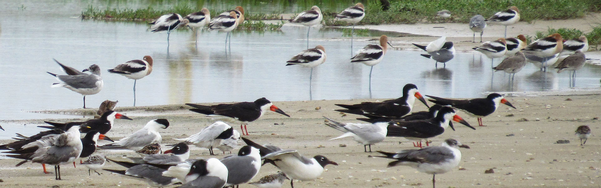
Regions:
<instances>
[{"instance_id":1,"label":"entire mixed flock of avocets, skimmers, gulls and terns","mask_svg":"<svg viewBox=\"0 0 601 188\"><path fill-rule=\"evenodd\" d=\"M442 17L450 16L450 12L439 12ZM353 23L353 30L356 23L360 22L365 16L365 7L361 3L346 8L336 19ZM448 17L448 16L447 16ZM300 23L310 27L319 24L323 19L321 10L313 6L311 10L303 11L293 19L292 23ZM475 33L483 35L486 22L496 22L505 25L505 34L507 25L519 21L519 10L517 7L510 7L506 11L500 11L489 19L477 15L472 17L469 27ZM244 9L236 7L234 10L225 11L213 19L210 18L209 10L202 8L197 13L182 17L180 14L166 14L149 23L150 30L153 32L167 31L169 33L180 27L195 28L197 31L202 27L209 27L209 30L219 30L228 33L226 44L231 43L230 31L234 30L240 23L244 22ZM506 37L506 36L505 36ZM526 43L523 35L510 38L500 38L495 41L484 42L475 47L476 51L482 52L487 57L500 58L505 57L501 63L492 67L493 70L503 70L510 74L519 72L525 66L526 61L538 63L542 70L550 64L556 64L558 73L563 70L570 70L574 73L582 67L586 60L584 52L588 49L586 37L564 41L560 34L552 34L543 39L536 40L530 44ZM351 42L352 45L352 42ZM387 36L381 36L379 45L367 45L357 52L351 62L361 62L373 68L378 64L384 54L386 54L388 45ZM447 63L455 54L453 42L447 42L445 37L430 42L428 45L413 44L419 49L423 49L427 54L422 54L426 58L432 58L438 63ZM308 47L307 47L308 48ZM315 48L307 49L294 55L287 61L286 66L299 65L308 67L319 66L326 60L326 50L321 45ZM55 60L56 61L56 60ZM74 92L85 96L94 95L103 88L102 77L100 77L100 67L96 64L82 70L81 72L72 67L66 66L56 61L61 66L66 75L57 75L48 72L56 77L59 83L52 84L51 87L66 87ZM153 59L146 55L142 60L126 61L118 64L114 69L108 72L120 74L124 77L134 80L134 98L136 81L150 75L152 72ZM84 72L91 72L85 74ZM311 79L311 76L310 76ZM370 71L371 80L371 71ZM392 161L388 167L410 166L419 172L432 174L432 184L435 186L436 174L444 174L459 165L461 152L459 148L469 149L469 146L463 145L456 139L445 139L441 146L430 146L429 139L440 136L451 127L455 130L453 122L459 122L466 127L476 130L462 117L456 114L456 110L465 111L467 114L478 118L479 127L483 127L482 117L486 117L499 108L500 104L514 107L507 99L498 93L490 93L486 98L475 99L447 99L437 96L430 96L429 101L433 102L430 106L424 96L418 91L415 84L406 84L403 87L403 96L397 99L390 99L382 102L361 102L360 104L336 104L340 111L348 114L356 114L358 121L367 123L344 123L335 119L324 117L325 127L331 127L341 131L341 136L332 138L344 139L351 137L356 142L364 145L365 152L372 152L371 145L382 142L386 137L404 137L413 142L413 146L419 149L404 149L400 152L377 151L380 156L389 158ZM418 99L428 111L413 112L415 99ZM114 103L116 104L116 102ZM55 179L61 180L61 164L73 163L80 159L80 164L86 166L89 171L104 171L121 174L125 177L135 178L145 181L151 187L166 187L177 184L178 187L238 187L242 184L252 184L257 187L282 187L285 180L290 180L290 186L294 187L294 180L311 181L319 178L325 172L328 164L338 165L323 155L305 157L296 149L282 149L275 145L261 145L246 137L241 137L232 125L240 125L242 136L249 135L247 125L254 122L264 115L267 111L274 111L290 117L280 108L276 107L266 98L260 98L252 102L237 102L233 104L186 104L192 107L191 111L212 117L213 124L204 127L198 133L185 138L172 138L179 142L172 145L166 145L171 149L162 152L161 143L163 138L159 131L169 127L167 119L154 119L149 121L140 130L135 131L129 136L120 140L113 141L105 136L115 126L116 119L129 119L123 114L113 111L108 107L97 119L90 119L85 122L45 122L49 125L39 126L49 128L49 131L41 131L33 136L23 136L18 134L16 141L0 145L0 149L8 150L7 157L18 158L23 161L17 166L28 161L43 164L44 173L45 164L55 167ZM135 103L134 103L135 105ZM0 129L2 129L0 127ZM2 129L4 130L4 129ZM81 134L85 134L81 137ZM586 125L578 127L576 135L581 139L581 145L587 142L590 137L591 129ZM108 140L108 143L97 146L100 140ZM239 148L239 140L246 143ZM426 146L423 146L423 140L426 140ZM584 142L583 142L584 141ZM198 148L209 149L207 158L190 158L190 145ZM217 155L213 149L219 149L225 152L238 149L237 154L228 155L221 159L213 158ZM132 154L138 154L139 157L129 157L127 161L109 157L107 154L95 154L97 150L128 149ZM114 162L121 169L104 168L107 161ZM267 175L255 182L250 182L260 171L264 164L273 164L279 169L275 174Z\"/></svg>"}]
</instances>

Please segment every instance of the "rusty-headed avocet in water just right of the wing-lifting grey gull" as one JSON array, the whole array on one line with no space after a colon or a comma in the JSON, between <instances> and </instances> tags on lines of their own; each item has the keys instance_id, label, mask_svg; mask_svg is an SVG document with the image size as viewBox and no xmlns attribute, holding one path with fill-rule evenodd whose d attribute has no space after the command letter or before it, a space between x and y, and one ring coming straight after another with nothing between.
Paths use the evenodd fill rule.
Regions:
<instances>
[{"instance_id":1,"label":"rusty-headed avocet in water just right of the wing-lifting grey gull","mask_svg":"<svg viewBox=\"0 0 601 188\"><path fill-rule=\"evenodd\" d=\"M152 72L152 57L145 55L142 60L131 60L118 64L108 71L133 79L133 106L136 106L136 81L146 77Z\"/></svg>"}]
</instances>

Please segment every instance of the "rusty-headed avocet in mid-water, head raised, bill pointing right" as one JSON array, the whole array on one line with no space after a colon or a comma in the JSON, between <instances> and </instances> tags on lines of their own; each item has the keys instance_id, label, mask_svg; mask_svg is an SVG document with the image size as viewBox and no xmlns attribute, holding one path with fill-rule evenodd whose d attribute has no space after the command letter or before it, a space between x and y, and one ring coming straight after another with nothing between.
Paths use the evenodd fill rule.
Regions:
<instances>
[{"instance_id":1,"label":"rusty-headed avocet in mid-water, head raised, bill pointing right","mask_svg":"<svg viewBox=\"0 0 601 188\"><path fill-rule=\"evenodd\" d=\"M382 57L386 54L388 50L388 46L386 44L392 46L388 42L388 36L382 35L380 36L380 45L365 45L363 49L357 52L355 57L350 58L351 62L360 62L367 66L371 66L370 69L370 80L371 80L371 71L374 69L374 65L380 63L382 61Z\"/></svg>"}]
</instances>

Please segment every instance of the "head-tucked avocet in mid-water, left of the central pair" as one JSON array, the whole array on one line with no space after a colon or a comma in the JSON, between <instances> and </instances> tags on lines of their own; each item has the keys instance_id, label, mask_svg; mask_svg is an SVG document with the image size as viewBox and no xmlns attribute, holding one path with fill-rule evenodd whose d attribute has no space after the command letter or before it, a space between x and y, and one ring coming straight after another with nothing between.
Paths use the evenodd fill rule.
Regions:
<instances>
[{"instance_id":1,"label":"head-tucked avocet in mid-water, left of the central pair","mask_svg":"<svg viewBox=\"0 0 601 188\"><path fill-rule=\"evenodd\" d=\"M326 61L326 49L322 45L317 45L315 48L305 49L304 51L294 55L290 60L286 61L286 66L298 64L302 67L311 68L309 80L313 78L313 67L316 67Z\"/></svg>"}]
</instances>

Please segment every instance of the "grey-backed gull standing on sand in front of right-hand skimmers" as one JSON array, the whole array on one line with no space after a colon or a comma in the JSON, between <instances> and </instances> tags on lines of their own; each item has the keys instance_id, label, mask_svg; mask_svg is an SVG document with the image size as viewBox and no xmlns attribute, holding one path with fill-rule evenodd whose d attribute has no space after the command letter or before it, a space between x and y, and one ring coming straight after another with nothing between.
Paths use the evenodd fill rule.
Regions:
<instances>
[{"instance_id":1,"label":"grey-backed gull standing on sand in front of right-hand skimmers","mask_svg":"<svg viewBox=\"0 0 601 188\"><path fill-rule=\"evenodd\" d=\"M430 146L423 149L406 149L400 152L378 151L385 156L376 156L394 159L388 163L392 166L411 166L419 172L432 174L432 186L436 187L436 174L447 173L459 165L461 151L459 148L468 148L455 139L447 139L442 146Z\"/></svg>"}]
</instances>

